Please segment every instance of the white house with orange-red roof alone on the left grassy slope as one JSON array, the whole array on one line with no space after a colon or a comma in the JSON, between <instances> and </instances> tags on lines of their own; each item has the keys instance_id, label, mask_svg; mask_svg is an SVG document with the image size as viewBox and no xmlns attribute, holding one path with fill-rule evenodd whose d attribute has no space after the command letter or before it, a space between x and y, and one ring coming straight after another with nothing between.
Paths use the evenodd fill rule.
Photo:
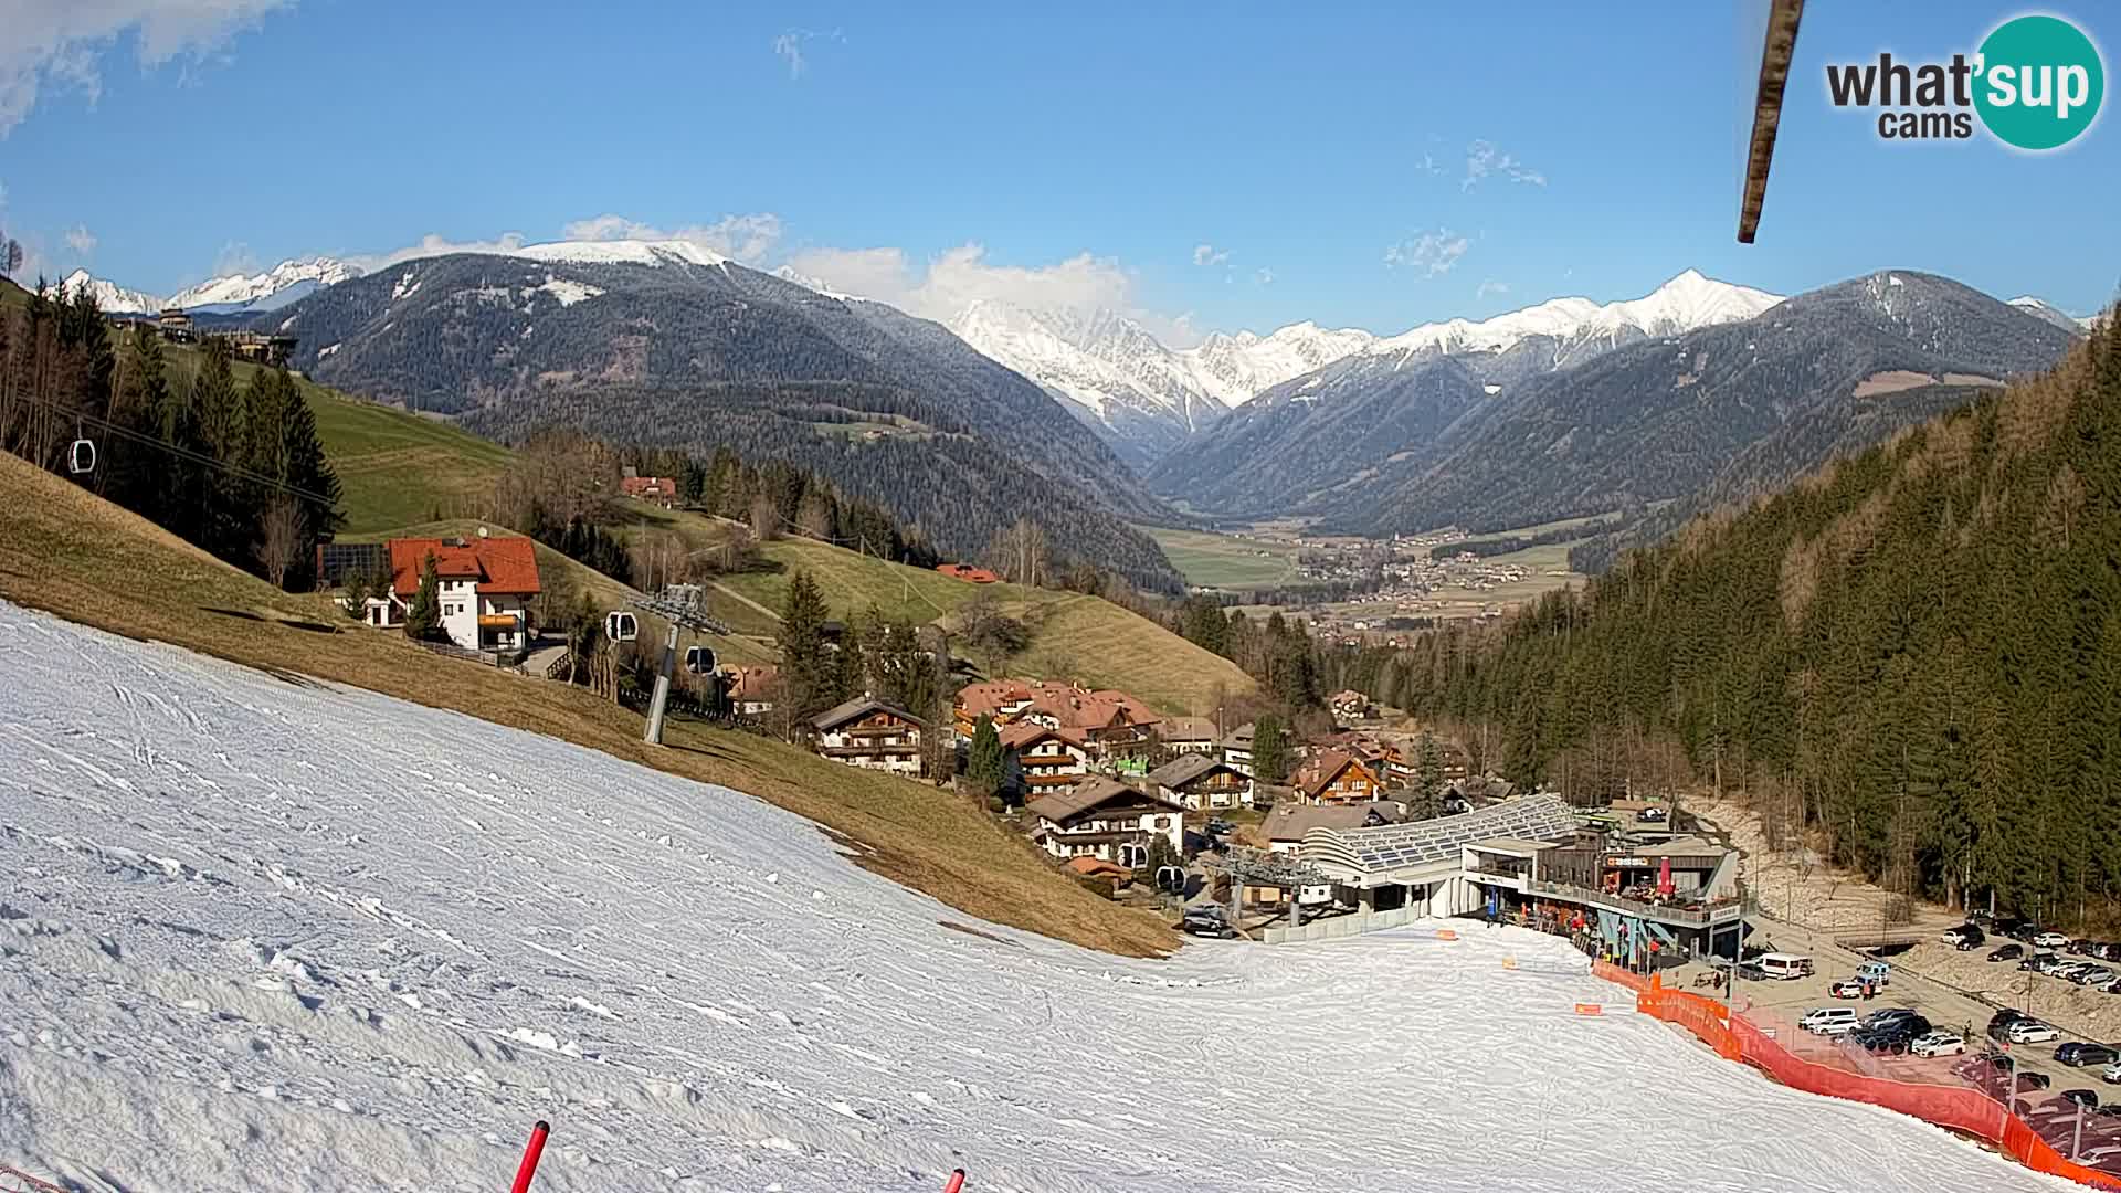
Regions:
<instances>
[{"instance_id":1,"label":"white house with orange-red roof alone on the left grassy slope","mask_svg":"<svg viewBox=\"0 0 2121 1193\"><path fill-rule=\"evenodd\" d=\"M363 620L403 626L420 592L426 558L435 558L441 633L464 650L513 654L528 645L530 599L539 594L537 546L530 539L390 539L390 592L369 596Z\"/></svg>"}]
</instances>

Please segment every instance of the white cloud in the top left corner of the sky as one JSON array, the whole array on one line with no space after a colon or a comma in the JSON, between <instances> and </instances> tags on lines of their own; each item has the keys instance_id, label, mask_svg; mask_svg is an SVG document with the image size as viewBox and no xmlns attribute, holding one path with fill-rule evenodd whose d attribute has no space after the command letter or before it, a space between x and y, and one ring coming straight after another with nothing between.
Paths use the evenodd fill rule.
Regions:
<instances>
[{"instance_id":1,"label":"white cloud in the top left corner of the sky","mask_svg":"<svg viewBox=\"0 0 2121 1193\"><path fill-rule=\"evenodd\" d=\"M6 0L0 23L0 138L15 129L42 87L74 89L93 104L100 59L134 34L142 68L201 59L265 13L293 0Z\"/></svg>"}]
</instances>

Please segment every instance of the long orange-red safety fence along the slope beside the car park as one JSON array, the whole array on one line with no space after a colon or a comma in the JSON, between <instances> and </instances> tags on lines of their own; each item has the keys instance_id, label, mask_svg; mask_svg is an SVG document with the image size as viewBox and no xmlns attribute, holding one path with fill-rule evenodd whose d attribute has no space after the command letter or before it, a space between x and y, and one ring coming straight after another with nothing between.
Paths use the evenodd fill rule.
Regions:
<instances>
[{"instance_id":1,"label":"long orange-red safety fence along the slope beside the car park","mask_svg":"<svg viewBox=\"0 0 2121 1193\"><path fill-rule=\"evenodd\" d=\"M1608 968L1610 966L1593 966L1591 972L1597 976L1610 976L1606 972ZM1618 972L1625 974L1625 970ZM1633 974L1627 976L1633 979ZM2028 1127L2023 1119L2011 1114L2000 1102L1987 1097L1979 1089L1964 1085L1888 1080L1881 1076L1864 1076L1828 1068L1818 1061L1807 1061L1782 1047L1773 1036L1756 1027L1743 1015L1731 1015L1724 1004L1712 998L1701 998L1699 993L1680 989L1665 989L1654 976L1648 985L1640 983L1642 979L1620 983L1635 987L1637 1010L1650 1015L1652 1019L1686 1027L1705 1044L1716 1049L1720 1057L1758 1066L1790 1089L1822 1093L1826 1097L1847 1097L1850 1102L1869 1102L1871 1106L1898 1110L1926 1123L1936 1123L1939 1127L1989 1140L2004 1155L2017 1159L2034 1172L2066 1176L2093 1189L2121 1191L2121 1176L2070 1161L2043 1140L2038 1131Z\"/></svg>"}]
</instances>

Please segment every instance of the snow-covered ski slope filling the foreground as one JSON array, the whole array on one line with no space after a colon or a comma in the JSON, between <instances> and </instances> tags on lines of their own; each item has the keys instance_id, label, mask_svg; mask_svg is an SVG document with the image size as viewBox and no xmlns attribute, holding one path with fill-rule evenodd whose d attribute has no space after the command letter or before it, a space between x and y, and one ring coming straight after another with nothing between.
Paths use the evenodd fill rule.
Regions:
<instances>
[{"instance_id":1,"label":"snow-covered ski slope filling the foreground","mask_svg":"<svg viewBox=\"0 0 2121 1193\"><path fill-rule=\"evenodd\" d=\"M0 1163L83 1189L494 1191L541 1117L547 1193L2062 1187L1578 1019L1620 998L1542 936L1114 959L736 792L13 605L0 904Z\"/></svg>"}]
</instances>

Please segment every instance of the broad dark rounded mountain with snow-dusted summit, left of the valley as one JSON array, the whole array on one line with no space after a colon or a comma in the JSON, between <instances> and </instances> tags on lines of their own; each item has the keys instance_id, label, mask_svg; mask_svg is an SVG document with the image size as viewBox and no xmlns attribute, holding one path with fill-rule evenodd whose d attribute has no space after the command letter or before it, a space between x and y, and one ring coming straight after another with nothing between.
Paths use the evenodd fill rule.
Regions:
<instances>
[{"instance_id":1,"label":"broad dark rounded mountain with snow-dusted summit, left of the valley","mask_svg":"<svg viewBox=\"0 0 2121 1193\"><path fill-rule=\"evenodd\" d=\"M405 261L318 291L259 327L301 338L318 380L462 414L522 442L564 422L602 439L825 473L957 554L1029 516L1069 554L1177 590L1169 520L1120 459L1039 386L889 306L643 250Z\"/></svg>"}]
</instances>

